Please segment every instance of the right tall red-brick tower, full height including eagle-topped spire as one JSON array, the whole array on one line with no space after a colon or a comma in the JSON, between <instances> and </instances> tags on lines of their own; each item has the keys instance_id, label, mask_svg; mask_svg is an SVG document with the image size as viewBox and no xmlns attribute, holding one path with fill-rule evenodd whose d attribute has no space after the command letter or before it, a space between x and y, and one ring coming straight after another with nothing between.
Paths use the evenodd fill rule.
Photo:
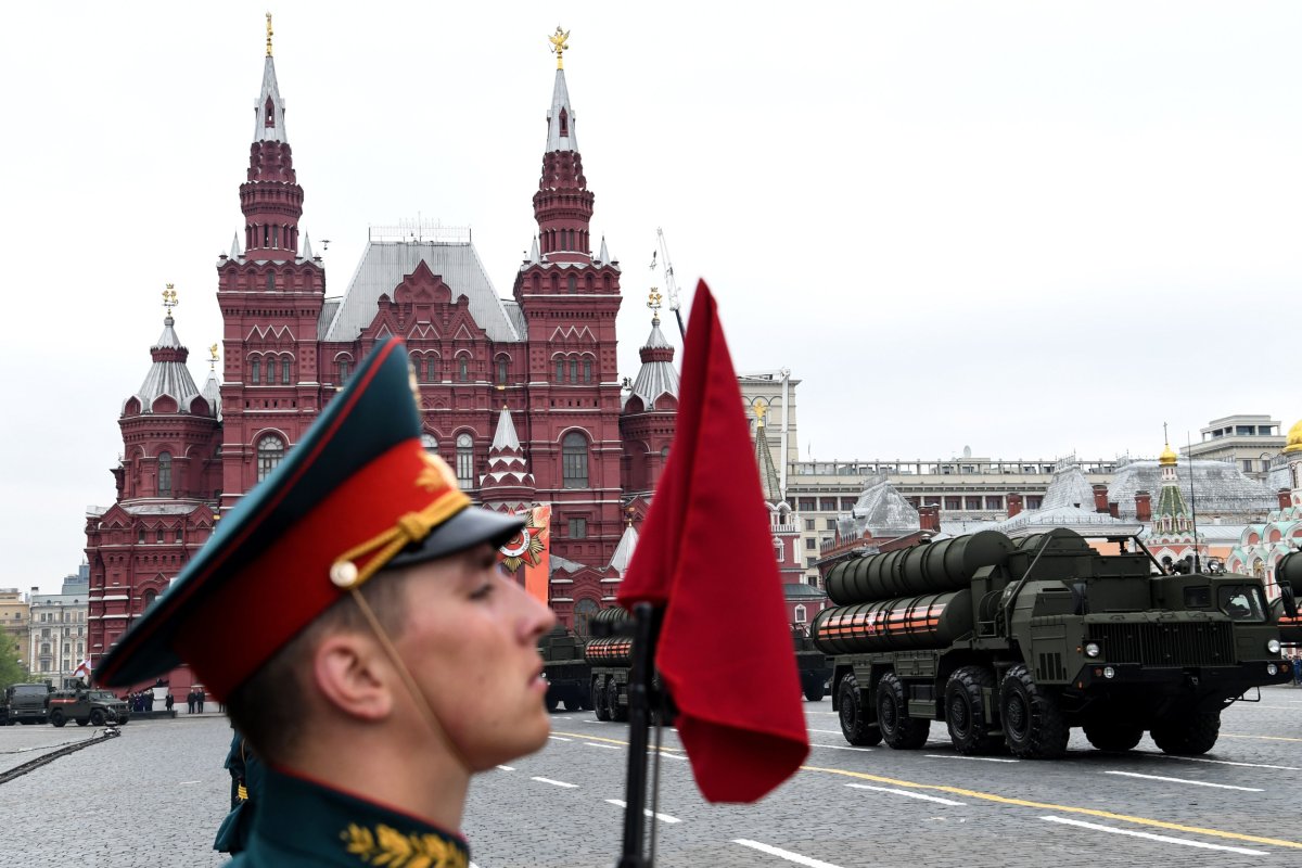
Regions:
<instances>
[{"instance_id":1,"label":"right tall red-brick tower, full height including eagle-topped spire","mask_svg":"<svg viewBox=\"0 0 1302 868\"><path fill-rule=\"evenodd\" d=\"M624 530L615 336L620 267L605 255L594 260L590 250L594 197L565 83L568 35L557 27L551 38L556 79L534 194L536 255L519 267L513 292L529 341L523 431L538 501L552 504L552 552L608 563Z\"/></svg>"}]
</instances>

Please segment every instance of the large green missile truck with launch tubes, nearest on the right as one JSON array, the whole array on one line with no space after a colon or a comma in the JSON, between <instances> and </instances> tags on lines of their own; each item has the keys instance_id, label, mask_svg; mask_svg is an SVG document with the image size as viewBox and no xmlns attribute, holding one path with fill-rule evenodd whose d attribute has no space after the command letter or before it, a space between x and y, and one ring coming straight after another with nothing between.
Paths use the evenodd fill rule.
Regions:
<instances>
[{"instance_id":1,"label":"large green missile truck with launch tubes, nearest on the right","mask_svg":"<svg viewBox=\"0 0 1302 868\"><path fill-rule=\"evenodd\" d=\"M832 703L852 744L919 748L945 721L965 755L1105 751L1144 731L1167 753L1210 751L1220 713L1288 681L1260 579L1163 573L1057 528L982 531L835 565L836 608L812 623L835 656Z\"/></svg>"}]
</instances>

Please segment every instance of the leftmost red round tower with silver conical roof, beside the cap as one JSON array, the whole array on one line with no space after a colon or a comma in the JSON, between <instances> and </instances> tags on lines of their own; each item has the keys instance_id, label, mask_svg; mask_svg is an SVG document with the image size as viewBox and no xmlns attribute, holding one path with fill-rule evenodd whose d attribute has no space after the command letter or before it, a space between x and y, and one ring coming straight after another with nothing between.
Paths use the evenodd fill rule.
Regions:
<instances>
[{"instance_id":1,"label":"leftmost red round tower with silver conical roof, beside the cap","mask_svg":"<svg viewBox=\"0 0 1302 868\"><path fill-rule=\"evenodd\" d=\"M167 590L212 532L221 468L217 409L194 384L177 338L176 290L163 293L163 334L145 381L122 402L113 506L86 515L87 656L95 664Z\"/></svg>"}]
</instances>

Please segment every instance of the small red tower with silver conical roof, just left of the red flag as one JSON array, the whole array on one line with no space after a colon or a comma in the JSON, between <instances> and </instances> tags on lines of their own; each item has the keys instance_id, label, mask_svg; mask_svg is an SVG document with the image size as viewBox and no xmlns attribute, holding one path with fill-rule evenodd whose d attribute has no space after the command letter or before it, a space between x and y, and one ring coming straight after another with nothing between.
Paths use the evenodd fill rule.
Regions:
<instances>
[{"instance_id":1,"label":"small red tower with silver conical roof, just left of the red flag","mask_svg":"<svg viewBox=\"0 0 1302 868\"><path fill-rule=\"evenodd\" d=\"M629 495L644 495L655 488L677 427L678 371L673 367L673 346L660 331L661 301L660 293L652 289L647 302L651 334L639 350L642 367L620 415L624 491Z\"/></svg>"}]
</instances>

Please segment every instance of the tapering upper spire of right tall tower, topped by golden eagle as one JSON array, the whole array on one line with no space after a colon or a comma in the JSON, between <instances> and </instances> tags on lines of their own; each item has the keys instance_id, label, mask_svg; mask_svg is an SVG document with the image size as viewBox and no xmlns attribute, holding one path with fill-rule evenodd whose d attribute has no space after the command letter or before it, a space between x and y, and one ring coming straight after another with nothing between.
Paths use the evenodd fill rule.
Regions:
<instances>
[{"instance_id":1,"label":"tapering upper spire of right tall tower, topped by golden eagle","mask_svg":"<svg viewBox=\"0 0 1302 868\"><path fill-rule=\"evenodd\" d=\"M534 194L534 217L542 241L542 254L553 263L592 260L589 223L592 220L592 194L583 176L583 157L578 152L574 109L565 86L562 53L569 48L569 31L560 27L549 36L556 55L556 83L552 107L547 112L547 152L543 174Z\"/></svg>"}]
</instances>

